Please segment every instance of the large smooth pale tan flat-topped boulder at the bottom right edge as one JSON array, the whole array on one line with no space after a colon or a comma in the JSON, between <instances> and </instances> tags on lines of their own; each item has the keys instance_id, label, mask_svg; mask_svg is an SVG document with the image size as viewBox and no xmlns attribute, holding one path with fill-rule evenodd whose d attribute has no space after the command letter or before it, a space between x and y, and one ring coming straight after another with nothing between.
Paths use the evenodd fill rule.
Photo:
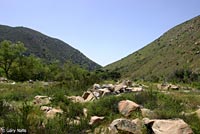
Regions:
<instances>
[{"instance_id":1,"label":"large smooth pale tan flat-topped boulder at the bottom right edge","mask_svg":"<svg viewBox=\"0 0 200 134\"><path fill-rule=\"evenodd\" d=\"M182 119L148 120L145 124L154 134L193 134L192 129Z\"/></svg>"}]
</instances>

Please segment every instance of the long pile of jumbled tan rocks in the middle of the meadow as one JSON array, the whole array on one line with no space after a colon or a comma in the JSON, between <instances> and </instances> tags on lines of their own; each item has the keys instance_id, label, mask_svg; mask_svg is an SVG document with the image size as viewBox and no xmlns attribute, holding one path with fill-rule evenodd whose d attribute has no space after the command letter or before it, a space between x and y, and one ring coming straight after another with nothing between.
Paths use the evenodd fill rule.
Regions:
<instances>
[{"instance_id":1,"label":"long pile of jumbled tan rocks in the middle of the meadow","mask_svg":"<svg viewBox=\"0 0 200 134\"><path fill-rule=\"evenodd\" d=\"M141 92L144 91L143 85L133 84L131 81L123 81L113 84L94 84L92 89L84 92L82 96L68 96L72 102L89 102L104 97L106 95L118 95L126 92Z\"/></svg>"}]
</instances>

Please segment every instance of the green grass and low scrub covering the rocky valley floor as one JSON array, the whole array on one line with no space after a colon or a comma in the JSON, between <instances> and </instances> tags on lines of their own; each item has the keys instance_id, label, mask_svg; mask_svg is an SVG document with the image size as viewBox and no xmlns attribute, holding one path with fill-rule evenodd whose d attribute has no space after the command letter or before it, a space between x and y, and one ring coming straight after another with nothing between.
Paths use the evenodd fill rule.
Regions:
<instances>
[{"instance_id":1,"label":"green grass and low scrub covering the rocky valley floor","mask_svg":"<svg viewBox=\"0 0 200 134\"><path fill-rule=\"evenodd\" d=\"M94 102L84 104L72 103L64 95L81 95L80 90L66 88L65 85L52 84L44 86L42 83L35 84L17 83L16 85L0 84L3 92L0 94L0 126L27 128L35 133L85 133L87 130L94 130L96 127L108 126L114 119L123 117L118 111L118 103L121 100L131 100L148 108L155 113L157 119L181 118L190 125L195 133L200 132L199 119L195 115L184 116L184 112L197 110L200 105L200 93L184 93L172 91L168 94L161 93L151 83L149 88L140 93L124 93L119 96L105 96ZM69 85L68 85L69 86ZM47 95L53 98L50 106L59 106L64 113L53 120L47 120L40 107L33 106L32 100L35 95ZM3 105L6 100L14 108ZM88 117L84 117L83 108L88 109ZM91 116L104 116L105 119L94 126L88 125ZM80 117L80 124L70 124L70 121ZM133 112L129 119L140 118L139 111ZM45 128L42 127L45 122Z\"/></svg>"}]
</instances>

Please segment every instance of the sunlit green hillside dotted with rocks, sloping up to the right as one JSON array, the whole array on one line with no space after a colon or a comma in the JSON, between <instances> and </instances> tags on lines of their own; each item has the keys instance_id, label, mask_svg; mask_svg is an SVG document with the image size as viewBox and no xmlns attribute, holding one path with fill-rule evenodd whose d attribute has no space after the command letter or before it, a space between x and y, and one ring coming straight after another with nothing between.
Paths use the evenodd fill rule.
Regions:
<instances>
[{"instance_id":1,"label":"sunlit green hillside dotted with rocks, sloping up to the right","mask_svg":"<svg viewBox=\"0 0 200 134\"><path fill-rule=\"evenodd\" d=\"M123 77L132 79L166 77L179 69L200 72L200 16L170 29L105 69L119 71Z\"/></svg>"}]
</instances>

